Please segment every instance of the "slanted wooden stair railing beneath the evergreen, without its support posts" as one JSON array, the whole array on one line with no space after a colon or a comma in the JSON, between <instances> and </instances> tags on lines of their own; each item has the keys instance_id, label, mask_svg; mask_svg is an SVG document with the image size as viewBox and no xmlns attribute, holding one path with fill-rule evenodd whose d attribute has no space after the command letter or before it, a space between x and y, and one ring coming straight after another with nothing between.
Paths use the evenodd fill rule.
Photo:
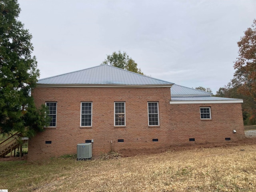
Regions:
<instances>
[{"instance_id":1,"label":"slanted wooden stair railing beneath the evergreen, without its support posts","mask_svg":"<svg viewBox=\"0 0 256 192\"><path fill-rule=\"evenodd\" d=\"M0 143L0 157L4 157L12 150L18 148L20 143L18 142L18 139L20 138L20 134L16 132L12 136L8 137L6 140Z\"/></svg>"}]
</instances>

